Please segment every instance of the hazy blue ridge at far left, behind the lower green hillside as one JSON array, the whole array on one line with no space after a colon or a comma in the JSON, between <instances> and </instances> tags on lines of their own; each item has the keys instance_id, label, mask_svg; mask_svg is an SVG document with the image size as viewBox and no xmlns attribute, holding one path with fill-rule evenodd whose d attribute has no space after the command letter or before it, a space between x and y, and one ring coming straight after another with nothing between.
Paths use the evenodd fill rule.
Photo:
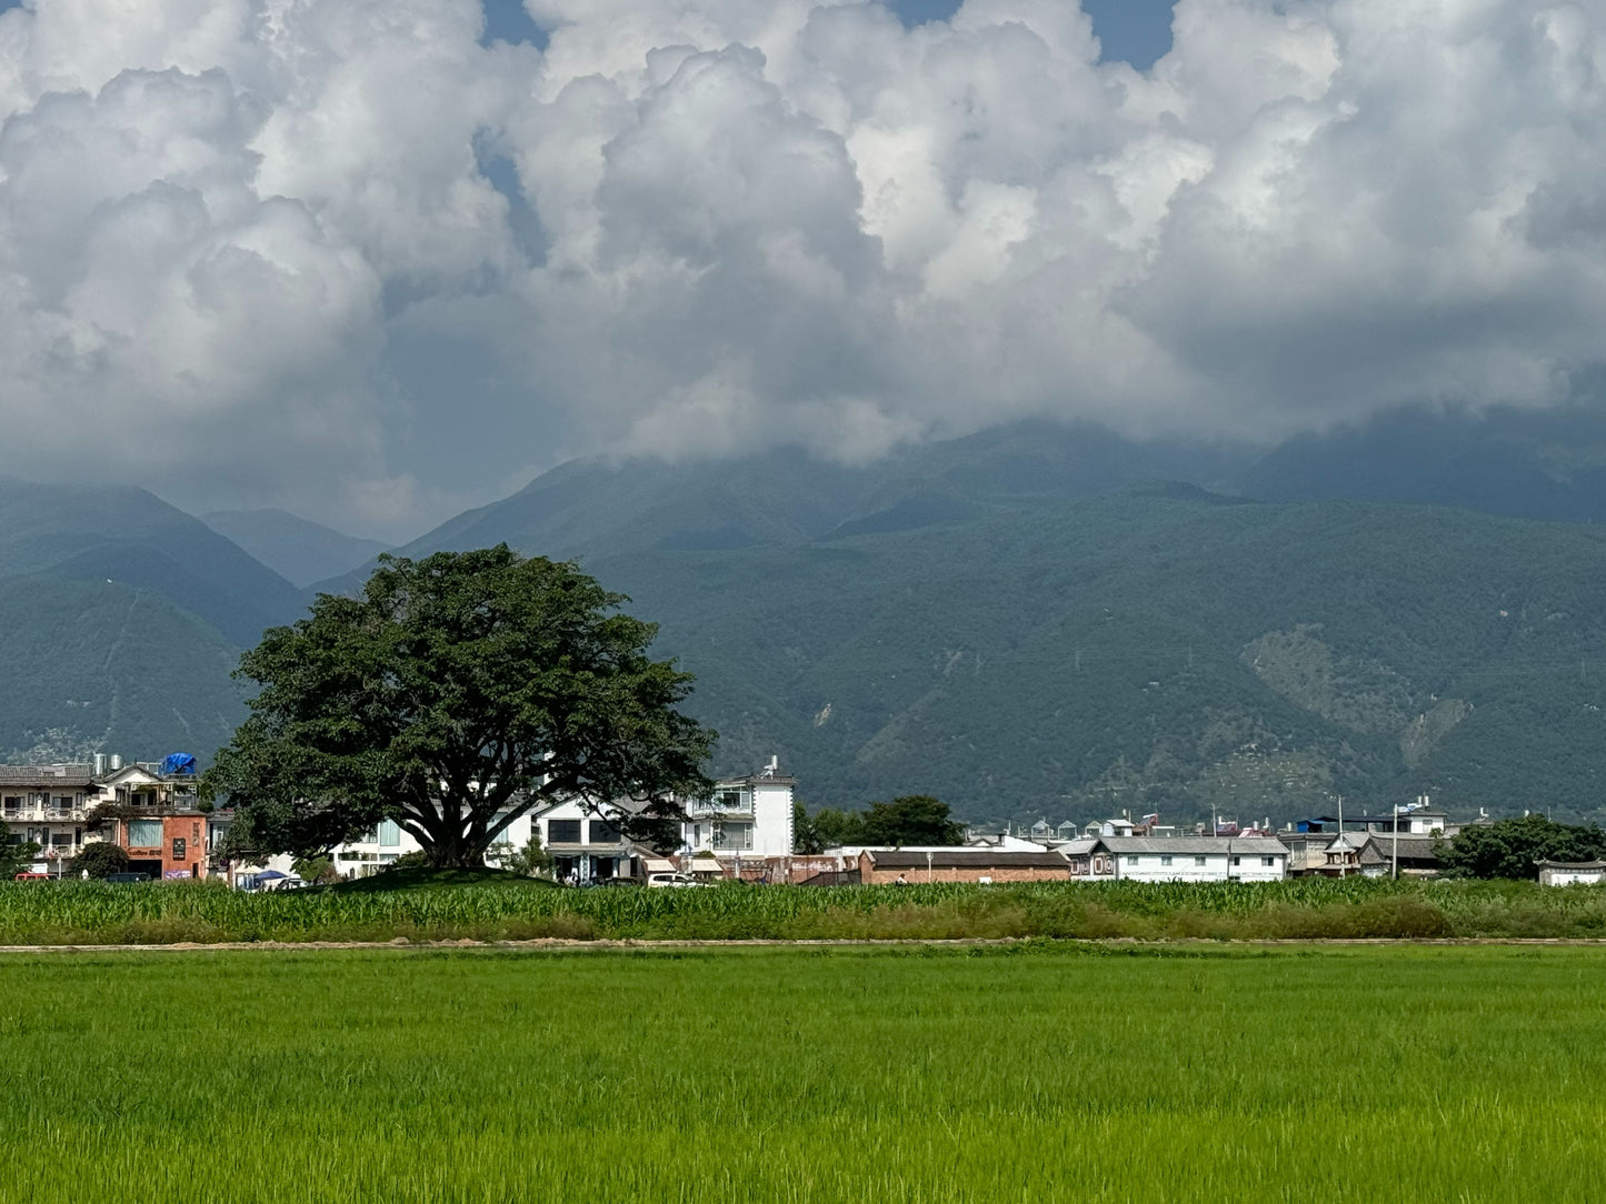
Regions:
<instances>
[{"instance_id":1,"label":"hazy blue ridge at far left, behind the lower green hillside","mask_svg":"<svg viewBox=\"0 0 1606 1204\"><path fill-rule=\"evenodd\" d=\"M236 645L304 608L289 581L145 490L0 477L0 580L39 573L149 589Z\"/></svg>"}]
</instances>

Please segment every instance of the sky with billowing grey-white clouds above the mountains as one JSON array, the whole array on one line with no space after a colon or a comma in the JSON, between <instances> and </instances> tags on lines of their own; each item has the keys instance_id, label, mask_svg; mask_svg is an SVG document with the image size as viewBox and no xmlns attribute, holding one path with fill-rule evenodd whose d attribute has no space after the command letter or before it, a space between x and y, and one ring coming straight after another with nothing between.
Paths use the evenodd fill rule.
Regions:
<instances>
[{"instance_id":1,"label":"sky with billowing grey-white clouds above the mountains","mask_svg":"<svg viewBox=\"0 0 1606 1204\"><path fill-rule=\"evenodd\" d=\"M1606 0L490 2L0 14L8 464L402 538L1603 379Z\"/></svg>"}]
</instances>

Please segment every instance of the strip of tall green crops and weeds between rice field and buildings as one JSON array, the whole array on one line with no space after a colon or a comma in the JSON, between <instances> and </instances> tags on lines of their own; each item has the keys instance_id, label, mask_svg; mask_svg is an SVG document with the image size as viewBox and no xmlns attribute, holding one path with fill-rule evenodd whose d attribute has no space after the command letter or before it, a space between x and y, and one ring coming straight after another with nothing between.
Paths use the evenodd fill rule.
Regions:
<instances>
[{"instance_id":1,"label":"strip of tall green crops and weeds between rice field and buildings","mask_svg":"<svg viewBox=\"0 0 1606 1204\"><path fill-rule=\"evenodd\" d=\"M406 939L1601 938L1606 889L1535 883L554 889L0 883L0 944Z\"/></svg>"}]
</instances>

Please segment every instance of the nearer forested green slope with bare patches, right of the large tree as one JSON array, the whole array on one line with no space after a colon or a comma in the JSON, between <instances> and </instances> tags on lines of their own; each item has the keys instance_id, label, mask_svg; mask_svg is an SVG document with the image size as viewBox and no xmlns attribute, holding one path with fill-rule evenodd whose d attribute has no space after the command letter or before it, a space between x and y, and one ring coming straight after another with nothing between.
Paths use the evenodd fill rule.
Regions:
<instances>
[{"instance_id":1,"label":"nearer forested green slope with bare patches, right of the large tree","mask_svg":"<svg viewBox=\"0 0 1606 1204\"><path fill-rule=\"evenodd\" d=\"M536 551L536 549L528 549ZM721 767L970 817L1595 814L1606 531L1132 491L588 562L699 674Z\"/></svg>"}]
</instances>

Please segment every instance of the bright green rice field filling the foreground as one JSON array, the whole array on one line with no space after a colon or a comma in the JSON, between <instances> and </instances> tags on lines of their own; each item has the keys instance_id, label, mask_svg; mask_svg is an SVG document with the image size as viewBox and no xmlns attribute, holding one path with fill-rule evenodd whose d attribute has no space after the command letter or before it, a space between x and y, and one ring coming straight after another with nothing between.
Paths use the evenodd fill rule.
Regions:
<instances>
[{"instance_id":1,"label":"bright green rice field filling the foreground","mask_svg":"<svg viewBox=\"0 0 1606 1204\"><path fill-rule=\"evenodd\" d=\"M0 957L5 1194L1601 1196L1606 949Z\"/></svg>"}]
</instances>

